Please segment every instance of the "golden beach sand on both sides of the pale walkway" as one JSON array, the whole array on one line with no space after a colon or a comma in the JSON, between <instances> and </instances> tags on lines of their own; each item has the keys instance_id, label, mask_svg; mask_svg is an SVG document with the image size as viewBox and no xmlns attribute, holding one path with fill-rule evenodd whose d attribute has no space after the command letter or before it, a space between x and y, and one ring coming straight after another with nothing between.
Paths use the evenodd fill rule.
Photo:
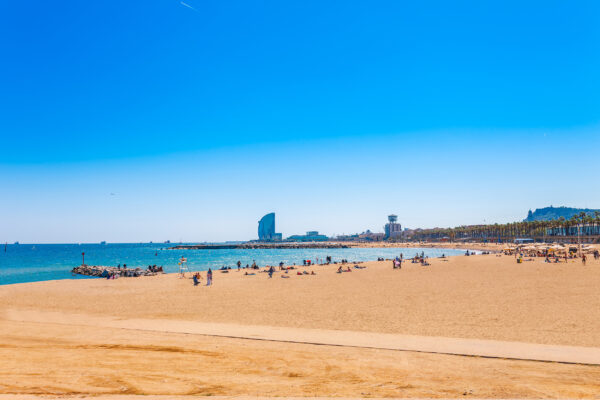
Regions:
<instances>
[{"instance_id":1,"label":"golden beach sand on both sides of the pale walkway","mask_svg":"<svg viewBox=\"0 0 600 400\"><path fill-rule=\"evenodd\" d=\"M600 263L457 256L430 267L272 279L215 272L0 287L0 393L322 397L600 396L600 367L317 346L66 323L54 312L600 347ZM304 268L301 268L304 270Z\"/></svg>"}]
</instances>

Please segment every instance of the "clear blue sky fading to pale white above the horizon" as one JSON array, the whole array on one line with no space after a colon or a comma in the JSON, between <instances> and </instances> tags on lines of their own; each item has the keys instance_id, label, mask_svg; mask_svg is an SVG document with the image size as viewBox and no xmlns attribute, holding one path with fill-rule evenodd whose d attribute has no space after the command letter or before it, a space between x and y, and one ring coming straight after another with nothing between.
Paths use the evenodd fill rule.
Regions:
<instances>
[{"instance_id":1,"label":"clear blue sky fading to pale white above the horizon","mask_svg":"<svg viewBox=\"0 0 600 400\"><path fill-rule=\"evenodd\" d=\"M0 241L600 208L600 2L3 1Z\"/></svg>"}]
</instances>

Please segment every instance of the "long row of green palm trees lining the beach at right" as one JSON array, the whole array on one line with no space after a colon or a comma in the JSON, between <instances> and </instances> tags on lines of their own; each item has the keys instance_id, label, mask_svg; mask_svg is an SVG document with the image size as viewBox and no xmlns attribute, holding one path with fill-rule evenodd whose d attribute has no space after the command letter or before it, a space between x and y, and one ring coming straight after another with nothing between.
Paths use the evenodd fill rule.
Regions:
<instances>
[{"instance_id":1,"label":"long row of green palm trees lining the beach at right","mask_svg":"<svg viewBox=\"0 0 600 400\"><path fill-rule=\"evenodd\" d=\"M599 236L600 212L581 212L570 219L512 222L493 225L468 225L455 228L416 229L405 231L404 240L481 240L506 241L515 238L548 239L557 236Z\"/></svg>"}]
</instances>

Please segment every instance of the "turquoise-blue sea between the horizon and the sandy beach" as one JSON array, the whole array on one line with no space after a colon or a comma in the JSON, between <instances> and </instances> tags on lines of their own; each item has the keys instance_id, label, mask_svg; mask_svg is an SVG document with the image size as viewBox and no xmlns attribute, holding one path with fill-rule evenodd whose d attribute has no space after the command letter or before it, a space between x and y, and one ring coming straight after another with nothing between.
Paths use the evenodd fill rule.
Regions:
<instances>
[{"instance_id":1,"label":"turquoise-blue sea between the horizon and the sandy beach","mask_svg":"<svg viewBox=\"0 0 600 400\"><path fill-rule=\"evenodd\" d=\"M431 248L347 248L347 249L218 249L218 250L171 250L171 244L159 243L108 243L108 244L9 244L0 247L0 285L49 281L57 279L98 279L72 274L81 265L82 258L88 265L147 268L148 265L163 266L165 272L178 272L178 261L187 259L191 271L218 269L223 266L236 268L236 263L259 266L277 265L283 262L302 264L303 260L343 259L373 261L379 257L391 259L402 254L404 258L424 252L428 257L463 254L465 250Z\"/></svg>"}]
</instances>

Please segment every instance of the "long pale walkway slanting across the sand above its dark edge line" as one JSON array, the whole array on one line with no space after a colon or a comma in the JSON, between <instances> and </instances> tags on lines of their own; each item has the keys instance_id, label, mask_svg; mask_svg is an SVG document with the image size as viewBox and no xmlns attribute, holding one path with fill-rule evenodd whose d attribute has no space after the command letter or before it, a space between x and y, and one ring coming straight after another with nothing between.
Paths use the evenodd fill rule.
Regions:
<instances>
[{"instance_id":1,"label":"long pale walkway slanting across the sand above its dark edge line","mask_svg":"<svg viewBox=\"0 0 600 400\"><path fill-rule=\"evenodd\" d=\"M180 333L269 342L412 351L470 357L600 365L600 347L558 346L499 340L460 339L375 332L219 324L169 319L119 319L58 312L6 310L2 318L31 322L132 331Z\"/></svg>"}]
</instances>

